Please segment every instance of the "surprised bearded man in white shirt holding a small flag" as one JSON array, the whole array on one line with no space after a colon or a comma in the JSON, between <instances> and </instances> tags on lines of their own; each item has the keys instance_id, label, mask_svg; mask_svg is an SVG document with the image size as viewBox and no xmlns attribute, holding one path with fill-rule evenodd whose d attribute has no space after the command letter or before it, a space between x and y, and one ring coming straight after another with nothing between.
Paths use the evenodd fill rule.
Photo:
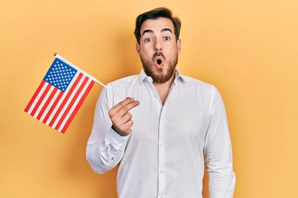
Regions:
<instances>
[{"instance_id":1,"label":"surprised bearded man in white shirt holding a small flag","mask_svg":"<svg viewBox=\"0 0 298 198\"><path fill-rule=\"evenodd\" d=\"M119 165L119 198L202 198L204 160L210 198L233 197L223 99L213 85L176 68L180 27L166 8L138 16L141 73L107 85L127 99L106 88L98 98L86 158L99 174Z\"/></svg>"}]
</instances>

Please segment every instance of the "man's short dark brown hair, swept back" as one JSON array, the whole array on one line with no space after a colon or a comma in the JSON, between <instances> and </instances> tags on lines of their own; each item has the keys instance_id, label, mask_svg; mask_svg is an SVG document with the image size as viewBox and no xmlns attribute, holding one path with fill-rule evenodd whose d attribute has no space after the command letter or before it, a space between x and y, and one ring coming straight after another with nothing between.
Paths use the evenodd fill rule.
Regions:
<instances>
[{"instance_id":1,"label":"man's short dark brown hair, swept back","mask_svg":"<svg viewBox=\"0 0 298 198\"><path fill-rule=\"evenodd\" d=\"M140 14L136 19L136 28L135 28L135 37L137 39L138 44L140 45L141 39L141 26L144 21L148 19L157 19L157 18L168 18L172 21L174 28L175 28L175 36L176 42L179 39L180 28L181 28L181 21L178 17L174 17L172 11L165 7L158 7L152 9L150 11L144 12Z\"/></svg>"}]
</instances>

